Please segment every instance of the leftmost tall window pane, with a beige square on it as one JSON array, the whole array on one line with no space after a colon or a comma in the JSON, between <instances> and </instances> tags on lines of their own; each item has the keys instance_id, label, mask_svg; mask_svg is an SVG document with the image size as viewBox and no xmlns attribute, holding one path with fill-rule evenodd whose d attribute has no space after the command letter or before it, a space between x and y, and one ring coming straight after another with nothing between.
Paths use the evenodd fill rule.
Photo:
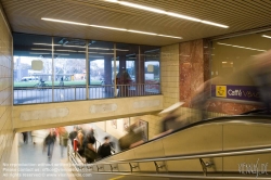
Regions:
<instances>
[{"instance_id":1,"label":"leftmost tall window pane, with a beige square on it","mask_svg":"<svg viewBox=\"0 0 271 180\"><path fill-rule=\"evenodd\" d=\"M52 102L52 38L13 34L14 104Z\"/></svg>"}]
</instances>

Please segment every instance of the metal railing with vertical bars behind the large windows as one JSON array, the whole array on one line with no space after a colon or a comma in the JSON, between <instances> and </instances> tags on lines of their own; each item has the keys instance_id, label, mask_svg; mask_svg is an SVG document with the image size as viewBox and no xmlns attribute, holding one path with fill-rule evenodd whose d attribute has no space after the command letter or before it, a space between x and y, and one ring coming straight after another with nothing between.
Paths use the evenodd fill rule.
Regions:
<instances>
[{"instance_id":1,"label":"metal railing with vertical bars behind the large windows","mask_svg":"<svg viewBox=\"0 0 271 180\"><path fill-rule=\"evenodd\" d=\"M89 100L160 94L159 83L88 86ZM14 104L87 100L86 86L14 88Z\"/></svg>"}]
</instances>

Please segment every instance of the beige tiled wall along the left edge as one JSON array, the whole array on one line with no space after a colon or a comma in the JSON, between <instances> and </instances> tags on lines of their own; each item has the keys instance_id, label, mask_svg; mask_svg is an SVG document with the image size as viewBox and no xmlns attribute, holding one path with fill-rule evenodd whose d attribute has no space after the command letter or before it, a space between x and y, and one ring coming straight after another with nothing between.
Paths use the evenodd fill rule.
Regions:
<instances>
[{"instance_id":1,"label":"beige tiled wall along the left edge","mask_svg":"<svg viewBox=\"0 0 271 180\"><path fill-rule=\"evenodd\" d=\"M17 164L17 136L12 124L12 34L0 7L0 175L4 165ZM4 164L5 163L5 164ZM8 177L10 178L10 177ZM3 177L3 180L5 178Z\"/></svg>"}]
</instances>

